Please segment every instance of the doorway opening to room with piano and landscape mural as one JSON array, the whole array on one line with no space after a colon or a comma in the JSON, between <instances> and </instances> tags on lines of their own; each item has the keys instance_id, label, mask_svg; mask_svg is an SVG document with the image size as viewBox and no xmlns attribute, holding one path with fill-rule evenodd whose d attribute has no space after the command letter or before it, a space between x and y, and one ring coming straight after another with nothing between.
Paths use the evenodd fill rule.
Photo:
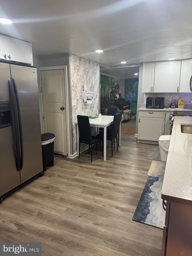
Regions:
<instances>
[{"instance_id":1,"label":"doorway opening to room with piano and landscape mural","mask_svg":"<svg viewBox=\"0 0 192 256\"><path fill-rule=\"evenodd\" d=\"M113 98L114 106L129 105L125 120L122 122L122 134L135 134L137 119L137 97L139 84L139 66L128 68L100 68L101 96L105 93ZM115 92L115 94L114 94ZM117 104L119 103L119 104ZM127 103L127 104L126 104ZM131 110L131 111L130 111Z\"/></svg>"}]
</instances>

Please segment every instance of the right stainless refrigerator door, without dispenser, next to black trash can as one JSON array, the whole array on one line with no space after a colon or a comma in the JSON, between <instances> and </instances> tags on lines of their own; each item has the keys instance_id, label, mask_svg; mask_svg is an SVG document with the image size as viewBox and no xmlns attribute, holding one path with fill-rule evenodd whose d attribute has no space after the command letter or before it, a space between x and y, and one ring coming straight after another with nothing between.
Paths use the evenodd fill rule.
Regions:
<instances>
[{"instance_id":1,"label":"right stainless refrigerator door, without dispenser, next to black trash can","mask_svg":"<svg viewBox=\"0 0 192 256\"><path fill-rule=\"evenodd\" d=\"M43 171L37 70L32 67L10 65L16 82L23 140L21 183Z\"/></svg>"}]
</instances>

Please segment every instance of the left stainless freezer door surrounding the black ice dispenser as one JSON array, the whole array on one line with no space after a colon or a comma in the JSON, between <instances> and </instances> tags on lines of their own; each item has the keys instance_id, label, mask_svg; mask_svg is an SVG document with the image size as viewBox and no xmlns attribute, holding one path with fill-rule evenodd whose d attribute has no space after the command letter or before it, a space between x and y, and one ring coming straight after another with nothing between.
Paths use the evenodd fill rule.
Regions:
<instances>
[{"instance_id":1,"label":"left stainless freezer door surrounding the black ice dispenser","mask_svg":"<svg viewBox=\"0 0 192 256\"><path fill-rule=\"evenodd\" d=\"M0 62L0 77L0 101L10 101L9 64ZM0 196L18 185L20 185L20 173L16 170L15 136L12 125L0 128Z\"/></svg>"}]
</instances>

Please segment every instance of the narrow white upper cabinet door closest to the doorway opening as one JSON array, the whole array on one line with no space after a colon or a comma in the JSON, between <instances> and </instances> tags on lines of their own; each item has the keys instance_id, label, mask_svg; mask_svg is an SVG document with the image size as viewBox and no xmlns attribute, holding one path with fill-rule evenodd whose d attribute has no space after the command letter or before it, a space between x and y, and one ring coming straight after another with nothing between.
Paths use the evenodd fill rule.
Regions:
<instances>
[{"instance_id":1,"label":"narrow white upper cabinet door closest to the doorway opening","mask_svg":"<svg viewBox=\"0 0 192 256\"><path fill-rule=\"evenodd\" d=\"M155 75L155 62L143 63L142 92L153 92L154 75Z\"/></svg>"}]
</instances>

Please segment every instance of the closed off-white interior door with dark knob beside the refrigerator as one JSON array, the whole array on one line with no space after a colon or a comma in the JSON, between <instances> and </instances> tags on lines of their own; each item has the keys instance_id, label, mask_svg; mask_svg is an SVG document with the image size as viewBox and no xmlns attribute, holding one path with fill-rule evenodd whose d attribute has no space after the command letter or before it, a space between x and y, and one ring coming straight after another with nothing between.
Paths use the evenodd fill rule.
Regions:
<instances>
[{"instance_id":1,"label":"closed off-white interior door with dark knob beside the refrigerator","mask_svg":"<svg viewBox=\"0 0 192 256\"><path fill-rule=\"evenodd\" d=\"M64 69L41 71L44 132L55 134L54 152L67 156Z\"/></svg>"}]
</instances>

